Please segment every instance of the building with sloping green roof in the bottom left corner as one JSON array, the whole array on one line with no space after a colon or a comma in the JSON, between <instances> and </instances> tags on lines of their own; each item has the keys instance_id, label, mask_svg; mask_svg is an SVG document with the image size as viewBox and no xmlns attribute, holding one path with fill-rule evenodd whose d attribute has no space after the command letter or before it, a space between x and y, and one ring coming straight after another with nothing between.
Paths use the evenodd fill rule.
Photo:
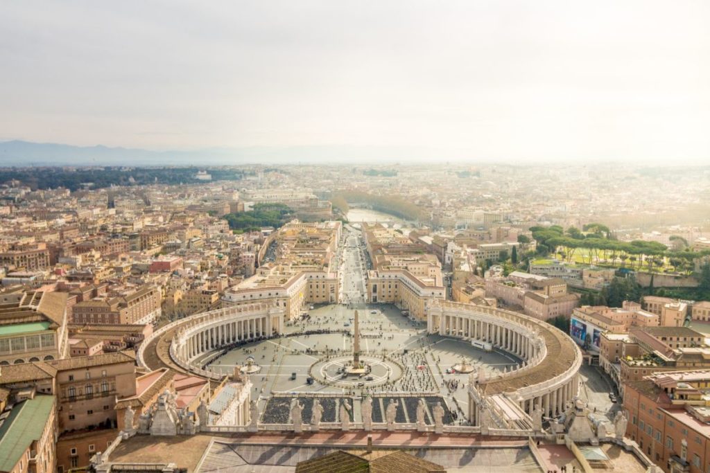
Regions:
<instances>
[{"instance_id":1,"label":"building with sloping green roof in the bottom left corner","mask_svg":"<svg viewBox=\"0 0 710 473\"><path fill-rule=\"evenodd\" d=\"M54 396L19 394L0 416L0 472L54 473L57 408Z\"/></svg>"}]
</instances>

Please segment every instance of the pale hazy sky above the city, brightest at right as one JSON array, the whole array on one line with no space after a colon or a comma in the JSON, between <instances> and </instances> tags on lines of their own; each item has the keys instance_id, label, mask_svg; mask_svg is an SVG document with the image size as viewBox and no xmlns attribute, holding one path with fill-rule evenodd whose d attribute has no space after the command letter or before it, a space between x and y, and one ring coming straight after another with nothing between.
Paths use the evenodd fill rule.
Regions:
<instances>
[{"instance_id":1,"label":"pale hazy sky above the city, brightest at right","mask_svg":"<svg viewBox=\"0 0 710 473\"><path fill-rule=\"evenodd\" d=\"M710 1L3 1L0 140L710 163Z\"/></svg>"}]
</instances>

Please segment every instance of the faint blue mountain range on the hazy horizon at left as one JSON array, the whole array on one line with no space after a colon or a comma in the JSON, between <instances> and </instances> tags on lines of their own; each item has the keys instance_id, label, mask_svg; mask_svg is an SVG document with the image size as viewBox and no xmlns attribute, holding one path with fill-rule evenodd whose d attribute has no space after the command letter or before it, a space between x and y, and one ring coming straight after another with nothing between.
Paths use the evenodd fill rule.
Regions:
<instances>
[{"instance_id":1,"label":"faint blue mountain range on the hazy horizon at left","mask_svg":"<svg viewBox=\"0 0 710 473\"><path fill-rule=\"evenodd\" d=\"M72 146L28 141L0 142L0 167L9 166L166 166L244 164L344 164L437 160L420 148L300 146L205 148L150 151L107 146ZM431 162L431 161L430 161Z\"/></svg>"}]
</instances>

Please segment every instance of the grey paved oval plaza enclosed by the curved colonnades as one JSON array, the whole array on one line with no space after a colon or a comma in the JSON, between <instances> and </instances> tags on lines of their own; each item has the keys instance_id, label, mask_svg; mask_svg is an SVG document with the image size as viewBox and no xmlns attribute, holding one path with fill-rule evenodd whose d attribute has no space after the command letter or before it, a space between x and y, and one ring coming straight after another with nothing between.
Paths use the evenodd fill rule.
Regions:
<instances>
[{"instance_id":1,"label":"grey paved oval plaza enclosed by the curved colonnades","mask_svg":"<svg viewBox=\"0 0 710 473\"><path fill-rule=\"evenodd\" d=\"M337 369L338 363L351 357L355 311L341 304L313 308L308 318L288 323L285 335L280 338L242 345L216 359L206 355L202 362L224 374L231 374L234 367L250 361L259 365L261 370L251 375L251 382L254 385L252 397L260 400L261 408L274 394L327 393L360 397L422 392L443 395L449 408L459 411L459 418L468 403L464 389L468 375L447 374L447 370L462 359L475 367L482 365L491 373L520 362L507 353L484 352L464 340L427 335L424 324L410 321L395 306L359 306L362 356L387 360L393 367L389 380L384 378L385 371L373 367L371 382L361 377L352 378L349 386L332 386L319 382L320 376L314 376L309 384L312 366L319 370L327 360L334 360L329 369L335 375L332 370Z\"/></svg>"}]
</instances>

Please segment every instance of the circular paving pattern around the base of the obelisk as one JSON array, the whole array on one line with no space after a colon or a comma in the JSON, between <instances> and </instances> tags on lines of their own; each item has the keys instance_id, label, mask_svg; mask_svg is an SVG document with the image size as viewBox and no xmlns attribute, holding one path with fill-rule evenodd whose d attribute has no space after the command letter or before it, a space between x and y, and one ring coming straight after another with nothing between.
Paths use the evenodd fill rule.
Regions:
<instances>
[{"instance_id":1,"label":"circular paving pattern around the base of the obelisk","mask_svg":"<svg viewBox=\"0 0 710 473\"><path fill-rule=\"evenodd\" d=\"M347 367L352 364L352 356L318 360L308 371L317 382L342 388L380 386L402 377L403 367L387 357L361 355L360 361L366 367L361 374L349 374Z\"/></svg>"}]
</instances>

